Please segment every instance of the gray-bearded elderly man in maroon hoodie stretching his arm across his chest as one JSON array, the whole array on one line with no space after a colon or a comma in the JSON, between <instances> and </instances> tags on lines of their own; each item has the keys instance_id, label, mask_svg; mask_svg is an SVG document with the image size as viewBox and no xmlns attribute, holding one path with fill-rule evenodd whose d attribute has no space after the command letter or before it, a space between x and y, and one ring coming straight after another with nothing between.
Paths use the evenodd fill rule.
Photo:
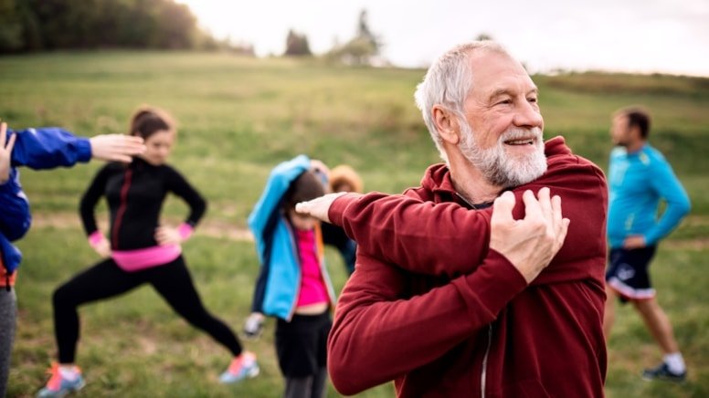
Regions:
<instances>
[{"instance_id":1,"label":"gray-bearded elderly man in maroon hoodie stretching his arm across his chest","mask_svg":"<svg viewBox=\"0 0 709 398\"><path fill-rule=\"evenodd\" d=\"M403 196L300 206L359 245L330 334L335 387L351 394L395 380L400 397L602 396L603 173L562 138L542 141L534 82L492 42L445 53L416 99L446 164ZM525 226L540 211L558 223L548 210L558 199L550 204L543 187L571 220L558 253ZM501 225L496 214L509 209L495 198L509 190L526 204L517 200L513 216L526 215ZM539 191L536 206L529 190Z\"/></svg>"}]
</instances>

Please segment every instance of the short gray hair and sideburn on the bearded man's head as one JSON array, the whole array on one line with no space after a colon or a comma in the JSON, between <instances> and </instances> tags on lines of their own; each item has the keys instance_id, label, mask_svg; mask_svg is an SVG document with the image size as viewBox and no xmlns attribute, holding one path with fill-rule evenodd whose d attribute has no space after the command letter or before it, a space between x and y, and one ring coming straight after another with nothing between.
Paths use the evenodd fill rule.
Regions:
<instances>
[{"instance_id":1,"label":"short gray hair and sideburn on the bearded man's head","mask_svg":"<svg viewBox=\"0 0 709 398\"><path fill-rule=\"evenodd\" d=\"M509 53L498 43L491 40L473 41L451 48L440 56L426 72L426 77L418 83L414 99L421 110L423 120L440 158L448 162L448 156L443 151L443 141L433 120L431 109L434 105L443 105L453 111L461 122L463 117L463 104L472 89L472 73L469 59L473 51L486 50L500 53L512 58Z\"/></svg>"}]
</instances>

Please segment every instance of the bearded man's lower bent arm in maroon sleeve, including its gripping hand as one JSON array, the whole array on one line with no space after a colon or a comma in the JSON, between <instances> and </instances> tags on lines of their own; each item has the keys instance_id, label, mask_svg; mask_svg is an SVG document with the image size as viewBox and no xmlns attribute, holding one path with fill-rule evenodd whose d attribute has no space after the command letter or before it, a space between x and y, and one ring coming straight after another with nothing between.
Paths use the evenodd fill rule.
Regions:
<instances>
[{"instance_id":1,"label":"bearded man's lower bent arm in maroon sleeve, including its gripping hand","mask_svg":"<svg viewBox=\"0 0 709 398\"><path fill-rule=\"evenodd\" d=\"M411 296L407 274L360 251L328 341L328 367L338 391L359 393L395 379L492 322L546 267L566 235L567 220L537 206L531 193L525 194L525 204L530 216L515 221L513 195L498 198L492 214L494 247L477 271L424 294ZM510 261L521 261L515 253L533 251L545 255L534 263Z\"/></svg>"}]
</instances>

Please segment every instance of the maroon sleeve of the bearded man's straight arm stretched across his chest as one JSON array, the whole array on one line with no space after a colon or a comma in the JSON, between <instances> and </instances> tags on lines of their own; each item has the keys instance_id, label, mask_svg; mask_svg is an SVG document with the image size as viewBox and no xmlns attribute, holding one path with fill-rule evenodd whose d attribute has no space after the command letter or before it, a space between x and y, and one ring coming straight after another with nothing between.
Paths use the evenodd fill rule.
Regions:
<instances>
[{"instance_id":1,"label":"maroon sleeve of the bearded man's straight arm stretched across his chest","mask_svg":"<svg viewBox=\"0 0 709 398\"><path fill-rule=\"evenodd\" d=\"M536 194L545 186L561 197L563 215L571 220L557 262L605 251L608 194L600 169L573 155L550 160L542 177L513 189L516 219L524 218L524 191ZM468 210L403 195L345 194L328 215L372 256L411 272L456 278L471 273L487 255L492 208Z\"/></svg>"}]
</instances>

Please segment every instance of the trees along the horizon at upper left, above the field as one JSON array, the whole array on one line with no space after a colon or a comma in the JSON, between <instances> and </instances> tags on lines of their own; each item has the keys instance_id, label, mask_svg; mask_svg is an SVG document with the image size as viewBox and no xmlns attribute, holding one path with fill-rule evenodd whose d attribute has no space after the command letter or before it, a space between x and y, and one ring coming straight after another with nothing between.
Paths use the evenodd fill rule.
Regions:
<instances>
[{"instance_id":1,"label":"trees along the horizon at upper left, above the field","mask_svg":"<svg viewBox=\"0 0 709 398\"><path fill-rule=\"evenodd\" d=\"M362 10L355 37L335 43L324 58L372 65L381 47ZM174 0L0 0L0 54L95 48L218 48L254 55L251 44L207 34L189 7ZM308 38L291 29L283 56L312 57Z\"/></svg>"}]
</instances>

